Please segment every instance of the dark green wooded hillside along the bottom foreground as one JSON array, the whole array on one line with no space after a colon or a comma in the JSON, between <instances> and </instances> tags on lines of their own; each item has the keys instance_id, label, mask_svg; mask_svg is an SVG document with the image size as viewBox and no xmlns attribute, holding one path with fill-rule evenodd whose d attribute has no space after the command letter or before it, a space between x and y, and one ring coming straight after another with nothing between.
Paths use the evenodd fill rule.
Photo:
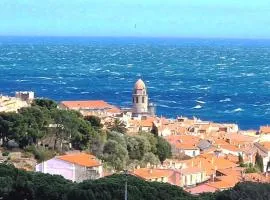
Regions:
<instances>
[{"instance_id":1,"label":"dark green wooded hillside along the bottom foreground","mask_svg":"<svg viewBox=\"0 0 270 200\"><path fill-rule=\"evenodd\" d=\"M254 200L270 199L270 184L240 183L216 194L191 196L177 186L146 182L134 176L112 175L95 181L72 183L61 176L26 172L0 164L3 200L119 200L128 181L129 200Z\"/></svg>"}]
</instances>

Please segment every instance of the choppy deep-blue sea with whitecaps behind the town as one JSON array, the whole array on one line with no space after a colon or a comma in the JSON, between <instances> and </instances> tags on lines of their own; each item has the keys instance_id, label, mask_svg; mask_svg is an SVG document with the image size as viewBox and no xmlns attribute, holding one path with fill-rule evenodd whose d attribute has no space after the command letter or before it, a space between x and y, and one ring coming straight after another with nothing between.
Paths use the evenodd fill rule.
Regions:
<instances>
[{"instance_id":1,"label":"choppy deep-blue sea with whitecaps behind the town","mask_svg":"<svg viewBox=\"0 0 270 200\"><path fill-rule=\"evenodd\" d=\"M269 40L0 37L2 94L128 107L138 78L159 115L270 122Z\"/></svg>"}]
</instances>

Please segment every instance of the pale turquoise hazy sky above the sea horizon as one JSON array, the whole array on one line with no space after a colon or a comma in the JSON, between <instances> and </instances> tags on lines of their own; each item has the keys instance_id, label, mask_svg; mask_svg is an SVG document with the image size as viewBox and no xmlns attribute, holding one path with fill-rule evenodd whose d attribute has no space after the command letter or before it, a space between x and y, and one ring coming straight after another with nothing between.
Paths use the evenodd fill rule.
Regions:
<instances>
[{"instance_id":1,"label":"pale turquoise hazy sky above the sea horizon","mask_svg":"<svg viewBox=\"0 0 270 200\"><path fill-rule=\"evenodd\" d=\"M0 35L270 38L270 0L0 0Z\"/></svg>"}]
</instances>

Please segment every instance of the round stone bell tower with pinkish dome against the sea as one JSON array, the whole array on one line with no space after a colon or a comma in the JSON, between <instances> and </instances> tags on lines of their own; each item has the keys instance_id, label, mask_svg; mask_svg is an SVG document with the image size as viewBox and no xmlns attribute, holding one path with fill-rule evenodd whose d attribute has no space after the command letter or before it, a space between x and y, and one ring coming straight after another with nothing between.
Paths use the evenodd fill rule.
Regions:
<instances>
[{"instance_id":1,"label":"round stone bell tower with pinkish dome against the sea","mask_svg":"<svg viewBox=\"0 0 270 200\"><path fill-rule=\"evenodd\" d=\"M148 95L142 79L139 79L134 85L132 102L132 111L134 114L148 113Z\"/></svg>"}]
</instances>

